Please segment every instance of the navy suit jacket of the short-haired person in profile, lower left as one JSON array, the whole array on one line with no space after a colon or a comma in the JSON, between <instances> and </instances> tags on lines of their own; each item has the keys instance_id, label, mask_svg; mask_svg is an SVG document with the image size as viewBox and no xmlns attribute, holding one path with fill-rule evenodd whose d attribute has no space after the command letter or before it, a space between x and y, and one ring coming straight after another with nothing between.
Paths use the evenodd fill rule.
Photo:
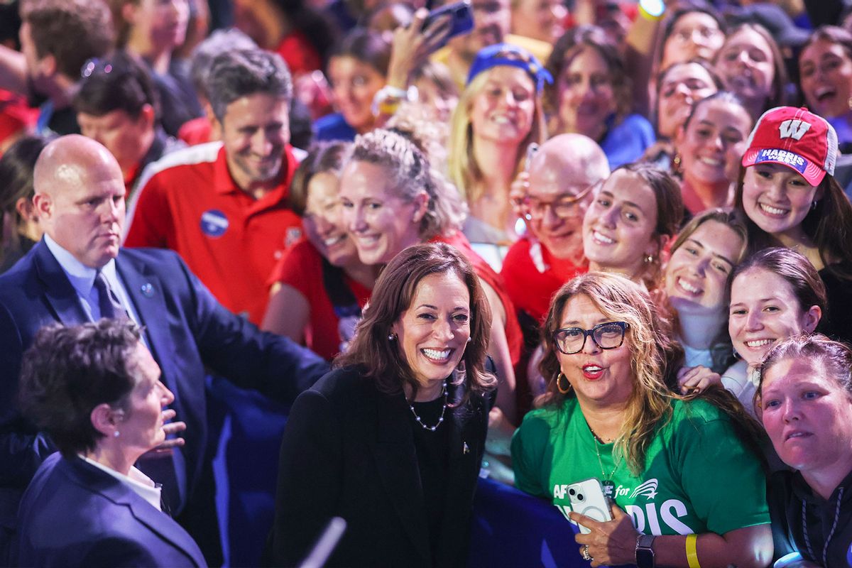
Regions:
<instances>
[{"instance_id":1,"label":"navy suit jacket of the short-haired person in profile, lower left","mask_svg":"<svg viewBox=\"0 0 852 568\"><path fill-rule=\"evenodd\" d=\"M130 487L59 453L38 469L20 503L18 565L204 566L187 531Z\"/></svg>"}]
</instances>

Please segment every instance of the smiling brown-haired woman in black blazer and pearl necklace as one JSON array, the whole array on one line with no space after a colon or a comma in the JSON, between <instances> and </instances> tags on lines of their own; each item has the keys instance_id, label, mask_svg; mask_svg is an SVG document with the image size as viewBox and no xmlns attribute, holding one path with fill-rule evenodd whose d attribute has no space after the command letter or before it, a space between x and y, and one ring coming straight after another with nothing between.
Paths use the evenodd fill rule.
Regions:
<instances>
[{"instance_id":1,"label":"smiling brown-haired woman in black blazer and pearl necklace","mask_svg":"<svg viewBox=\"0 0 852 568\"><path fill-rule=\"evenodd\" d=\"M397 255L348 353L293 405L281 445L274 565L295 565L333 516L329 565L465 565L495 377L491 312L447 244Z\"/></svg>"}]
</instances>

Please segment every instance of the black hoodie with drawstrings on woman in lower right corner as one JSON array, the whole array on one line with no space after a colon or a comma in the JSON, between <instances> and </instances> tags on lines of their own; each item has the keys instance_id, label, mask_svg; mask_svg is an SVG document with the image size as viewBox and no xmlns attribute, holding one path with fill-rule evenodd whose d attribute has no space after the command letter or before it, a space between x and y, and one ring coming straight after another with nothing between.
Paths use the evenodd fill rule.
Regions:
<instances>
[{"instance_id":1,"label":"black hoodie with drawstrings on woman in lower right corner","mask_svg":"<svg viewBox=\"0 0 852 568\"><path fill-rule=\"evenodd\" d=\"M776 558L798 550L803 559L820 566L848 565L847 554L852 550L852 472L827 501L815 495L798 472L773 473L767 491Z\"/></svg>"}]
</instances>

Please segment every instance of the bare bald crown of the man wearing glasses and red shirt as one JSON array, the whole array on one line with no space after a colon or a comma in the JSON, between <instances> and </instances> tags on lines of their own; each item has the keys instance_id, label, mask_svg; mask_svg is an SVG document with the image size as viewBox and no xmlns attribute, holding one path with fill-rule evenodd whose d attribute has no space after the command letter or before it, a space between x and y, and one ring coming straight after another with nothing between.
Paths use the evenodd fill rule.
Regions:
<instances>
[{"instance_id":1,"label":"bare bald crown of the man wearing glasses and red shirt","mask_svg":"<svg viewBox=\"0 0 852 568\"><path fill-rule=\"evenodd\" d=\"M607 155L588 136L563 134L544 142L530 164L530 185L540 178L579 189L609 177Z\"/></svg>"}]
</instances>

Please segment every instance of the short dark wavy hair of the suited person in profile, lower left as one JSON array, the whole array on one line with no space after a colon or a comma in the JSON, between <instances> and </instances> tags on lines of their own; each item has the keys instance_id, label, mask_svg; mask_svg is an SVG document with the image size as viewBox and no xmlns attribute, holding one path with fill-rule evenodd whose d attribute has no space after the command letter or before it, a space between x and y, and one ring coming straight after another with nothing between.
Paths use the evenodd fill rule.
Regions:
<instances>
[{"instance_id":1,"label":"short dark wavy hair of the suited person in profile, lower left","mask_svg":"<svg viewBox=\"0 0 852 568\"><path fill-rule=\"evenodd\" d=\"M141 338L131 320L101 319L39 330L20 370L20 408L63 456L94 450L104 434L91 412L107 403L128 410Z\"/></svg>"}]
</instances>

